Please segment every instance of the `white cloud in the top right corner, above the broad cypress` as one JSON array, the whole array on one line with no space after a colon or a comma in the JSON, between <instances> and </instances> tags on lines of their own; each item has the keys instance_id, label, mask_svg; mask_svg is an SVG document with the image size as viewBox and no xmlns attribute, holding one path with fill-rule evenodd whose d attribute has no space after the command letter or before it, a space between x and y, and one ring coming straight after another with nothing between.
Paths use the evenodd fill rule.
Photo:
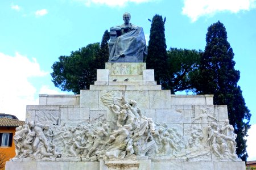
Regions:
<instances>
[{"instance_id":1,"label":"white cloud in the top right corner, above the broad cypress","mask_svg":"<svg viewBox=\"0 0 256 170\"><path fill-rule=\"evenodd\" d=\"M212 16L216 12L237 13L256 7L256 0L184 0L182 14L195 22L201 16Z\"/></svg>"}]
</instances>

